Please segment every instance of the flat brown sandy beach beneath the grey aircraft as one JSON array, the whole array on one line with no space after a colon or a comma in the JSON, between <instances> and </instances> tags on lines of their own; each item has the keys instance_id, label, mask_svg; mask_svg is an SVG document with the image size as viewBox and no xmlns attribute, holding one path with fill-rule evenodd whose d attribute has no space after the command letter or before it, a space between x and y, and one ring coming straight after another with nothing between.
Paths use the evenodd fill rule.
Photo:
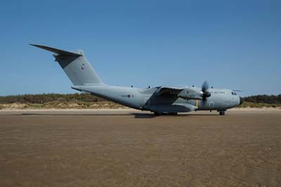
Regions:
<instances>
[{"instance_id":1,"label":"flat brown sandy beach beneath the grey aircraft","mask_svg":"<svg viewBox=\"0 0 281 187\"><path fill-rule=\"evenodd\" d=\"M281 186L281 110L0 112L0 186Z\"/></svg>"}]
</instances>

